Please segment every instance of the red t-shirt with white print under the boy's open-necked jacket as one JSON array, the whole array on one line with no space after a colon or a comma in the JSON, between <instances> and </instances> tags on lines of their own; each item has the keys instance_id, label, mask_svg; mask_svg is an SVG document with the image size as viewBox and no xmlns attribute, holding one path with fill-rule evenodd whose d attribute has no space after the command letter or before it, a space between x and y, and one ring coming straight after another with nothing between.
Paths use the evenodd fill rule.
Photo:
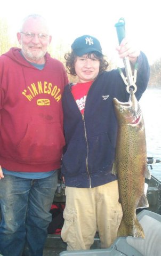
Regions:
<instances>
[{"instance_id":1,"label":"red t-shirt with white print under the boy's open-necked jacket","mask_svg":"<svg viewBox=\"0 0 161 256\"><path fill-rule=\"evenodd\" d=\"M84 107L85 107L87 93L92 83L93 83L93 80L86 83L77 83L71 87L71 92L73 93L73 97L82 114L84 114Z\"/></svg>"}]
</instances>

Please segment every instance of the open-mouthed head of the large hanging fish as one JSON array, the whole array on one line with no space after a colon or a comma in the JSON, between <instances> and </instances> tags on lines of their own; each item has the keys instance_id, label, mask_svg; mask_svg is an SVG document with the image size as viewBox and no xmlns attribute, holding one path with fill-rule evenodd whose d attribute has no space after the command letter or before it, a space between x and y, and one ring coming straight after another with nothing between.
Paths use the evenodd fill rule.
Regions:
<instances>
[{"instance_id":1,"label":"open-mouthed head of the large hanging fish","mask_svg":"<svg viewBox=\"0 0 161 256\"><path fill-rule=\"evenodd\" d=\"M130 97L127 102L120 102L113 99L115 113L119 124L124 123L136 126L142 121L142 111L134 91L130 89Z\"/></svg>"}]
</instances>

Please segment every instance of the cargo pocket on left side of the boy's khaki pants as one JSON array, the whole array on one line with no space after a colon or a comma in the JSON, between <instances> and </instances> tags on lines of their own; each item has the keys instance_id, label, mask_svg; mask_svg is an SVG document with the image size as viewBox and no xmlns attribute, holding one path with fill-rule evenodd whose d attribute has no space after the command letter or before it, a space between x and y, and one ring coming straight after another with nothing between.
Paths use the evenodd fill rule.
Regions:
<instances>
[{"instance_id":1,"label":"cargo pocket on left side of the boy's khaki pants","mask_svg":"<svg viewBox=\"0 0 161 256\"><path fill-rule=\"evenodd\" d=\"M74 225L75 212L72 209L65 207L63 211L64 225L61 230L61 237L67 244L76 246L76 230Z\"/></svg>"}]
</instances>

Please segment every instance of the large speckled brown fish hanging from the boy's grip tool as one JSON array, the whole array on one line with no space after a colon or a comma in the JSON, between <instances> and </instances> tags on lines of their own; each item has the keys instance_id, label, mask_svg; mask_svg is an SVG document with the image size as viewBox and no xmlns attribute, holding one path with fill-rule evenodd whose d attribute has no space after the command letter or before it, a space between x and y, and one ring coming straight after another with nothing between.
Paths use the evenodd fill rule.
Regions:
<instances>
[{"instance_id":1,"label":"large speckled brown fish hanging from the boy's grip tool","mask_svg":"<svg viewBox=\"0 0 161 256\"><path fill-rule=\"evenodd\" d=\"M118 134L112 173L118 175L119 202L123 209L118 236L144 238L144 231L136 218L136 209L149 206L144 193L144 181L150 179L150 172L142 111L132 89L128 102L114 98L114 107Z\"/></svg>"}]
</instances>

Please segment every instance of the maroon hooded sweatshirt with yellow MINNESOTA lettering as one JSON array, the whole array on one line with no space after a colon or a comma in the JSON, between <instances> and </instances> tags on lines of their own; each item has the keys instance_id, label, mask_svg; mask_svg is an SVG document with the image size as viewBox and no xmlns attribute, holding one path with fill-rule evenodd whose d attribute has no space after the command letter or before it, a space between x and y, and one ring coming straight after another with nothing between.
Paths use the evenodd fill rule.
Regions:
<instances>
[{"instance_id":1,"label":"maroon hooded sweatshirt with yellow MINNESOTA lettering","mask_svg":"<svg viewBox=\"0 0 161 256\"><path fill-rule=\"evenodd\" d=\"M0 57L0 165L47 172L60 167L65 145L61 97L68 78L50 54L38 70L20 51L11 48Z\"/></svg>"}]
</instances>

